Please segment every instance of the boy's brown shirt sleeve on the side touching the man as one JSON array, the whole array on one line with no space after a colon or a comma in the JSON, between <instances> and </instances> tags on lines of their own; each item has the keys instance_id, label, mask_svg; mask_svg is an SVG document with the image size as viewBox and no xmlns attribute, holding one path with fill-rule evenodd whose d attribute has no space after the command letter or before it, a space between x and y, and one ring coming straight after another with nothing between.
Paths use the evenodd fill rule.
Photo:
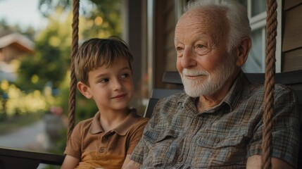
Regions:
<instances>
[{"instance_id":1,"label":"boy's brown shirt sleeve on the side touching the man","mask_svg":"<svg viewBox=\"0 0 302 169\"><path fill-rule=\"evenodd\" d=\"M141 120L139 120L139 122L134 125L134 130L132 131L132 134L130 136L130 143L128 145L127 154L132 154L135 146L137 146L148 120L149 118L141 118Z\"/></svg>"}]
</instances>

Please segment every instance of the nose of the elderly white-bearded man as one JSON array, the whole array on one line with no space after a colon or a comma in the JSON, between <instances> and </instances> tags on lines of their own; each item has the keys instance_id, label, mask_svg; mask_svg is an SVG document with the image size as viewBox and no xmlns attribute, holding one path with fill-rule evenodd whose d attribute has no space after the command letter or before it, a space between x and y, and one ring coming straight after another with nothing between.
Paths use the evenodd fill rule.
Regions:
<instances>
[{"instance_id":1,"label":"nose of the elderly white-bearded man","mask_svg":"<svg viewBox=\"0 0 302 169\"><path fill-rule=\"evenodd\" d=\"M186 46L182 55L182 68L192 68L196 66L197 62L195 58L195 52L191 49L190 46Z\"/></svg>"}]
</instances>

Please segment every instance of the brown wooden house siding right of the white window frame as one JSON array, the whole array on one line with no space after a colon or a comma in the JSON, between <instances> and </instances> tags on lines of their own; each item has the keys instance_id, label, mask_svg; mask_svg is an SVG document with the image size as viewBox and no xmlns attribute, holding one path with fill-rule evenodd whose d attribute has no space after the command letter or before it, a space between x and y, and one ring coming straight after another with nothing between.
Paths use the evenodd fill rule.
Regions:
<instances>
[{"instance_id":1,"label":"brown wooden house siding right of the white window frame","mask_svg":"<svg viewBox=\"0 0 302 169\"><path fill-rule=\"evenodd\" d=\"M302 0L286 0L283 6L282 72L302 69Z\"/></svg>"}]
</instances>

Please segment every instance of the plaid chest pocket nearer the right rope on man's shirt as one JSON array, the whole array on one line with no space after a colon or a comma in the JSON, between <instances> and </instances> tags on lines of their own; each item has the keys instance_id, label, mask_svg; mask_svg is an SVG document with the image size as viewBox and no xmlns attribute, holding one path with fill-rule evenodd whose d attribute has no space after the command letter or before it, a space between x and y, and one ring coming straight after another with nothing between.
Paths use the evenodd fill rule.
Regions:
<instances>
[{"instance_id":1,"label":"plaid chest pocket nearer the right rope on man's shirt","mask_svg":"<svg viewBox=\"0 0 302 169\"><path fill-rule=\"evenodd\" d=\"M194 156L194 167L222 168L229 165L241 168L246 165L248 139L240 134L227 136L206 134L199 136Z\"/></svg>"}]
</instances>

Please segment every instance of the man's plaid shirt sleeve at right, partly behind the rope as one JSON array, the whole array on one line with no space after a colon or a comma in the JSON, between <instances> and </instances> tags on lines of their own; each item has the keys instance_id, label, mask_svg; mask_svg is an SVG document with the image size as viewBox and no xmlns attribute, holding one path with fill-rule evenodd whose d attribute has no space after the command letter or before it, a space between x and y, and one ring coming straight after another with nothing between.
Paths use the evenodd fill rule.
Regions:
<instances>
[{"instance_id":1,"label":"man's plaid shirt sleeve at right, partly behind the rope","mask_svg":"<svg viewBox=\"0 0 302 169\"><path fill-rule=\"evenodd\" d=\"M300 117L294 92L287 87L275 87L272 117L272 157L280 158L296 167L298 161ZM264 107L264 106L263 106ZM262 154L263 118L256 126L248 146L248 156Z\"/></svg>"}]
</instances>

